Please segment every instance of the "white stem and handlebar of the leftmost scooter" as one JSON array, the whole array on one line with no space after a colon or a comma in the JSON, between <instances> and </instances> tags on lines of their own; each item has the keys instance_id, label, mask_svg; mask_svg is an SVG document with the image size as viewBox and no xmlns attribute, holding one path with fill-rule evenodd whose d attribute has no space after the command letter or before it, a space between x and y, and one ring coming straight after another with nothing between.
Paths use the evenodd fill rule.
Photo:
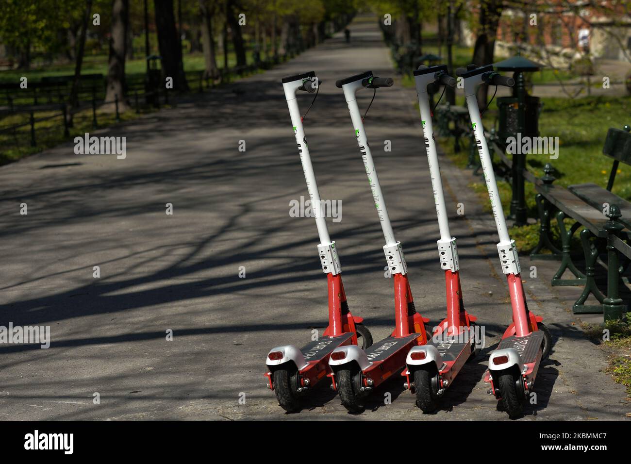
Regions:
<instances>
[{"instance_id":1,"label":"white stem and handlebar of the leftmost scooter","mask_svg":"<svg viewBox=\"0 0 631 464\"><path fill-rule=\"evenodd\" d=\"M295 80L293 80L294 78ZM300 153L302 170L305 174L305 181L307 181L307 191L309 191L311 208L315 214L315 225L320 238L318 251L320 261L322 263L322 270L324 273L337 275L341 272L339 257L335 242L332 242L331 237L329 236L326 218L324 212L322 211L320 192L317 188L317 182L315 181L315 173L313 165L311 164L311 157L309 155L309 146L307 146L307 138L305 136L305 130L302 124L302 117L300 117L300 109L298 108L298 100L296 97L296 92L304 86L305 82L307 82L307 85L310 85L310 88L315 88L317 87L319 81L315 77L315 73L311 71L310 73L298 74L297 76L283 79L283 89L285 90L285 98L287 100L287 106L289 107L289 115L292 119L293 133L298 145L298 152Z\"/></svg>"}]
</instances>

